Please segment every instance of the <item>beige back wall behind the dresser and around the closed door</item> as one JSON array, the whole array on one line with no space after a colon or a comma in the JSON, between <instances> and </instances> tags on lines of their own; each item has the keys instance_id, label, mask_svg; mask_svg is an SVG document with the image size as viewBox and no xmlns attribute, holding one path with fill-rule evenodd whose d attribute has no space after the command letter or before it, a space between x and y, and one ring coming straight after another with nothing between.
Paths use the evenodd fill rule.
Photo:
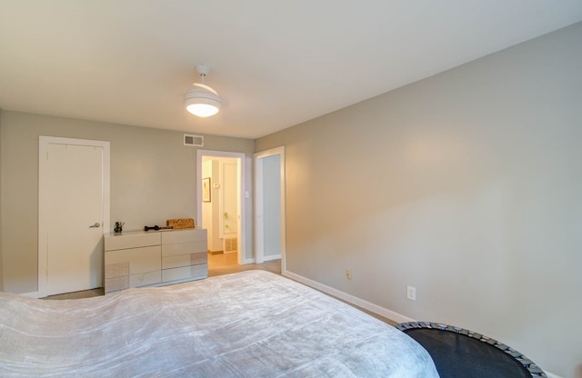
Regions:
<instances>
[{"instance_id":1,"label":"beige back wall behind the dresser and around the closed door","mask_svg":"<svg viewBox=\"0 0 582 378\"><path fill-rule=\"evenodd\" d=\"M37 291L38 135L111 142L112 228L115 221L130 231L196 219L196 148L183 145L181 132L9 111L2 114L1 132L6 292ZM245 153L250 161L254 142L206 135L204 148Z\"/></svg>"}]
</instances>

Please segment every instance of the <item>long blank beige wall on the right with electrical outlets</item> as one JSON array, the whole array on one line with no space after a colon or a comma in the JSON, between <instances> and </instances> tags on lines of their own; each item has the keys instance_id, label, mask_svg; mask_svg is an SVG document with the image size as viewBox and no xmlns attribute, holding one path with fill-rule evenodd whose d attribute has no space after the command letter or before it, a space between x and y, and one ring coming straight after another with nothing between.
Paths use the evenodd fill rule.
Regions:
<instances>
[{"instance_id":1,"label":"long blank beige wall on the right with electrical outlets","mask_svg":"<svg viewBox=\"0 0 582 378\"><path fill-rule=\"evenodd\" d=\"M286 146L287 270L582 376L580 41L577 24L258 139Z\"/></svg>"}]
</instances>

